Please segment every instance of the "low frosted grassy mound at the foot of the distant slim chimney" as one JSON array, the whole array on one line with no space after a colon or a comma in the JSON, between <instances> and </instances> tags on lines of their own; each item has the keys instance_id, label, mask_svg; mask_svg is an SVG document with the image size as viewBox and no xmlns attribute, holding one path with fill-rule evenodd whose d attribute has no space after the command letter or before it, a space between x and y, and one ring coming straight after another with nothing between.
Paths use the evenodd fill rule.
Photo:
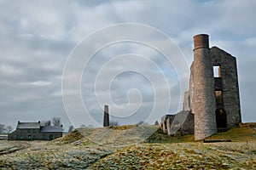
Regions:
<instances>
[{"instance_id":1,"label":"low frosted grassy mound at the foot of the distant slim chimney","mask_svg":"<svg viewBox=\"0 0 256 170\"><path fill-rule=\"evenodd\" d=\"M86 144L108 145L108 147L123 147L138 144L148 139L159 126L125 125L118 127L79 128L67 136L56 139L54 144L68 144L79 140Z\"/></svg>"}]
</instances>

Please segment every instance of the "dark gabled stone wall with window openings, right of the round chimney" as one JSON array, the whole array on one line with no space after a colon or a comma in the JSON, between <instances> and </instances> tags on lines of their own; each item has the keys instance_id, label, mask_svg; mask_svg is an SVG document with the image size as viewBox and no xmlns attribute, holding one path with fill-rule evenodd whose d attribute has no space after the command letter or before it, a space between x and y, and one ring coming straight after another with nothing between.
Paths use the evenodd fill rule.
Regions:
<instances>
[{"instance_id":1,"label":"dark gabled stone wall with window openings, right of the round chimney","mask_svg":"<svg viewBox=\"0 0 256 170\"><path fill-rule=\"evenodd\" d=\"M223 92L223 104L216 105L216 109L224 109L228 127L233 127L241 122L236 58L217 47L211 48L211 57L212 65L220 66L220 77L215 78L215 90Z\"/></svg>"}]
</instances>

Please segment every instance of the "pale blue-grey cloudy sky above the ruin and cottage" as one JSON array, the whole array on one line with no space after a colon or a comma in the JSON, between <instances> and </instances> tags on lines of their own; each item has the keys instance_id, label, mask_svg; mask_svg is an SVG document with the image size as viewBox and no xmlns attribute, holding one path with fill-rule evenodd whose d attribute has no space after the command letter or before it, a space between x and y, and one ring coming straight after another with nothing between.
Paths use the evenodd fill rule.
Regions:
<instances>
[{"instance_id":1,"label":"pale blue-grey cloudy sky above the ruin and cottage","mask_svg":"<svg viewBox=\"0 0 256 170\"><path fill-rule=\"evenodd\" d=\"M99 127L104 105L119 124L160 122L182 108L201 33L236 56L242 122L256 122L255 8L254 0L0 0L0 123L55 116L66 129Z\"/></svg>"}]
</instances>

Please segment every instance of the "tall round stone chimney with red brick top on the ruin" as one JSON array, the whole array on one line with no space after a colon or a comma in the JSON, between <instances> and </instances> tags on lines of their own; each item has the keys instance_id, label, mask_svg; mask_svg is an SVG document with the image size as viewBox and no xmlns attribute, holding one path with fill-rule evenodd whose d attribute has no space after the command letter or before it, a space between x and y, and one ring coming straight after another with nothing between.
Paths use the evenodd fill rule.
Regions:
<instances>
[{"instance_id":1,"label":"tall round stone chimney with red brick top on the ruin","mask_svg":"<svg viewBox=\"0 0 256 170\"><path fill-rule=\"evenodd\" d=\"M212 59L207 35L194 37L194 93L195 140L217 133Z\"/></svg>"}]
</instances>

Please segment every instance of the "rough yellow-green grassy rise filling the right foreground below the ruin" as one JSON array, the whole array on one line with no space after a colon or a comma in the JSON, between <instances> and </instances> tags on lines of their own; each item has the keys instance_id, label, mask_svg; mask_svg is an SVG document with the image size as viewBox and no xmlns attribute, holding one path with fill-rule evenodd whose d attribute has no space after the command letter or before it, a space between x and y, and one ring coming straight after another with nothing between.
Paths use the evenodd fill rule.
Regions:
<instances>
[{"instance_id":1,"label":"rough yellow-green grassy rise filling the right foreground below the ruin","mask_svg":"<svg viewBox=\"0 0 256 170\"><path fill-rule=\"evenodd\" d=\"M135 144L96 161L92 169L255 169L256 143Z\"/></svg>"}]
</instances>

